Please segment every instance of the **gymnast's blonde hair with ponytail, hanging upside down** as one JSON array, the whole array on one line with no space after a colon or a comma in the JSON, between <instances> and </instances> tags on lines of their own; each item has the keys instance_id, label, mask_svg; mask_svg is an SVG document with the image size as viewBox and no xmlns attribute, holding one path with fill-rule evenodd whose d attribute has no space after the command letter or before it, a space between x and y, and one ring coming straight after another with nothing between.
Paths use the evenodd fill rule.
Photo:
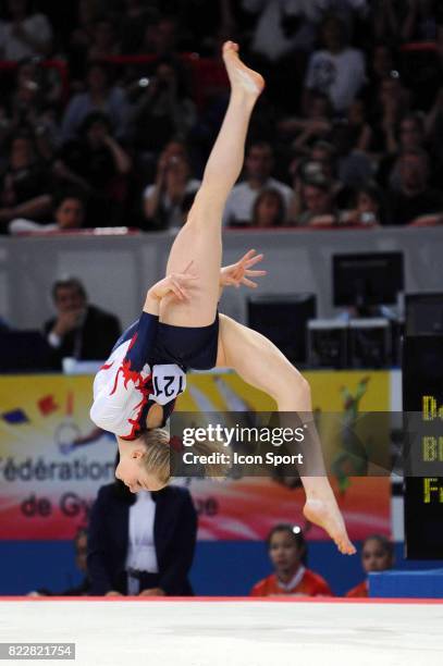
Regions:
<instances>
[{"instance_id":1,"label":"gymnast's blonde hair with ponytail, hanging upside down","mask_svg":"<svg viewBox=\"0 0 443 666\"><path fill-rule=\"evenodd\" d=\"M174 476L175 464L180 461L181 452L170 446L170 433L164 428L147 430L141 440L146 452L141 458L145 471L155 474L160 483L167 485ZM196 455L208 456L213 453L226 453L222 444L218 442L196 442L192 452ZM206 477L222 480L225 478L229 465L223 462L204 465Z\"/></svg>"}]
</instances>

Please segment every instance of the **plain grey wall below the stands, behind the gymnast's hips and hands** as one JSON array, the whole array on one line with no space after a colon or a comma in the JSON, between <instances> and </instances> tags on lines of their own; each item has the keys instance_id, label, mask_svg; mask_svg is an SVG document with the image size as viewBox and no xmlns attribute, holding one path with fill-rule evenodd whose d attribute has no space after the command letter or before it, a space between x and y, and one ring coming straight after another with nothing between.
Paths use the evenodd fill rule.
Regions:
<instances>
[{"instance_id":1,"label":"plain grey wall below the stands, behind the gymnast's hips and hands","mask_svg":"<svg viewBox=\"0 0 443 666\"><path fill-rule=\"evenodd\" d=\"M123 325L139 312L146 289L164 271L173 236L65 235L0 239L0 316L20 328L38 328L52 313L52 282L81 278L90 300L115 312ZM223 261L249 248L266 254L259 293L313 292L320 317L331 317L331 256L336 252L403 250L406 291L443 291L443 229L365 231L230 231ZM222 310L245 318L247 289L227 289Z\"/></svg>"}]
</instances>

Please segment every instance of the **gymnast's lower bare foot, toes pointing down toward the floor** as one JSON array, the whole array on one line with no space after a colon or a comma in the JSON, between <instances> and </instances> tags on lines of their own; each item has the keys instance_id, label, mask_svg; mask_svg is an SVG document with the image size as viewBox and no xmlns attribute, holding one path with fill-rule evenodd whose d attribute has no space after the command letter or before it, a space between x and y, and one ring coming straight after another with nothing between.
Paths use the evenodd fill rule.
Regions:
<instances>
[{"instance_id":1,"label":"gymnast's lower bare foot, toes pointing down toward the floor","mask_svg":"<svg viewBox=\"0 0 443 666\"><path fill-rule=\"evenodd\" d=\"M325 530L343 555L354 555L356 548L349 541L333 492L327 491L323 496L321 495L308 496L303 509L305 518Z\"/></svg>"}]
</instances>

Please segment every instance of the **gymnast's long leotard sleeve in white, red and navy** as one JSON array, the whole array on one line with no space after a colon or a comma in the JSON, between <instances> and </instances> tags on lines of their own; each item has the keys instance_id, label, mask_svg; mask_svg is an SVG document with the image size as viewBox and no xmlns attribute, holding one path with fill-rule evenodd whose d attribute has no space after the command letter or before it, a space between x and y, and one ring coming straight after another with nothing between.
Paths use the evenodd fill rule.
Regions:
<instances>
[{"instance_id":1,"label":"gymnast's long leotard sleeve in white, red and navy","mask_svg":"<svg viewBox=\"0 0 443 666\"><path fill-rule=\"evenodd\" d=\"M94 380L90 418L120 437L134 439L140 429L140 415L152 391L147 357L157 324L158 317L143 312L134 335L113 349Z\"/></svg>"}]
</instances>

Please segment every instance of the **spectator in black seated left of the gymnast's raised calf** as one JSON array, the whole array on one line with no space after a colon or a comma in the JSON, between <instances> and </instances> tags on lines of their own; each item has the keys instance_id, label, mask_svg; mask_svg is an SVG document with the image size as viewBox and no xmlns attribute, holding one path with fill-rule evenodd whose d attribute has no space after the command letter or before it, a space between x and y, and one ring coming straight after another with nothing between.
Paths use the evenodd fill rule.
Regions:
<instances>
[{"instance_id":1,"label":"spectator in black seated left of the gymnast's raised calf","mask_svg":"<svg viewBox=\"0 0 443 666\"><path fill-rule=\"evenodd\" d=\"M172 136L185 140L196 121L196 108L184 73L173 61L160 61L132 111L137 151L159 153Z\"/></svg>"}]
</instances>

